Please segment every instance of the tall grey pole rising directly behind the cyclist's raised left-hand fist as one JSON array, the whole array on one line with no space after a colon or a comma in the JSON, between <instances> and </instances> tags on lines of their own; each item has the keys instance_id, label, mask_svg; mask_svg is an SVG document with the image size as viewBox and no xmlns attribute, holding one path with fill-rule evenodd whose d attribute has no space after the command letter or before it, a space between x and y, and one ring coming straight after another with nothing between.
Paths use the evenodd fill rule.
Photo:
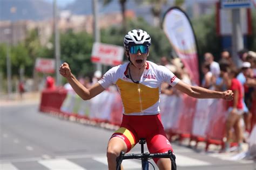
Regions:
<instances>
[{"instance_id":1,"label":"tall grey pole rising directly behind the cyclist's raised left-hand fist","mask_svg":"<svg viewBox=\"0 0 256 170\"><path fill-rule=\"evenodd\" d=\"M60 66L60 47L59 47L59 30L58 30L58 9L57 9L57 0L53 0L53 26L54 26L54 38L55 38L55 73L56 73L56 84L60 86L60 75L59 75L59 66Z\"/></svg>"}]
</instances>

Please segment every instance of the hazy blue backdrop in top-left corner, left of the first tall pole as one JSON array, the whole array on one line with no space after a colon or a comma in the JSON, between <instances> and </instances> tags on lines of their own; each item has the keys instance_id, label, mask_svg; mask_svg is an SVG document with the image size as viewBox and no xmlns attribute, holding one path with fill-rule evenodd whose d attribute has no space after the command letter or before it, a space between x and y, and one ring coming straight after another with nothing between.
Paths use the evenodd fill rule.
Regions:
<instances>
[{"instance_id":1,"label":"hazy blue backdrop in top-left corner, left of the first tall pole","mask_svg":"<svg viewBox=\"0 0 256 170\"><path fill-rule=\"evenodd\" d=\"M0 20L42 20L52 17L52 9L43 0L0 0Z\"/></svg>"}]
</instances>

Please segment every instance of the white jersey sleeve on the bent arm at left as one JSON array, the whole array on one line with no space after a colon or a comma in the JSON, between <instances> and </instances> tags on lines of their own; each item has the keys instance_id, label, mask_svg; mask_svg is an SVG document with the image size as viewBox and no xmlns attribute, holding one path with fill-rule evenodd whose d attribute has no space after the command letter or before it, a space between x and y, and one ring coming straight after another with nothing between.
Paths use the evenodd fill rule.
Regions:
<instances>
[{"instance_id":1,"label":"white jersey sleeve on the bent arm at left","mask_svg":"<svg viewBox=\"0 0 256 170\"><path fill-rule=\"evenodd\" d=\"M109 69L102 77L102 79L100 79L98 81L98 83L100 85L102 85L102 87L104 89L107 89L109 86L111 86L112 84L116 83L116 74L117 74L117 67L113 67L111 69Z\"/></svg>"}]
</instances>

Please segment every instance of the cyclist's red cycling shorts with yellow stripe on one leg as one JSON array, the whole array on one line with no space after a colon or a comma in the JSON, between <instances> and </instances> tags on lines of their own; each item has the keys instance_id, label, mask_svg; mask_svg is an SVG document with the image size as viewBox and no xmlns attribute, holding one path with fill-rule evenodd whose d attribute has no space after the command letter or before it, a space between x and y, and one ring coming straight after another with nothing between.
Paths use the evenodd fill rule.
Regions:
<instances>
[{"instance_id":1,"label":"cyclist's red cycling shorts with yellow stripe on one leg","mask_svg":"<svg viewBox=\"0 0 256 170\"><path fill-rule=\"evenodd\" d=\"M150 153L164 153L172 150L172 146L166 137L160 114L157 115L123 115L120 128L111 136L123 139L127 146L127 152L131 150L140 138L146 139ZM159 158L155 158L157 163Z\"/></svg>"}]
</instances>

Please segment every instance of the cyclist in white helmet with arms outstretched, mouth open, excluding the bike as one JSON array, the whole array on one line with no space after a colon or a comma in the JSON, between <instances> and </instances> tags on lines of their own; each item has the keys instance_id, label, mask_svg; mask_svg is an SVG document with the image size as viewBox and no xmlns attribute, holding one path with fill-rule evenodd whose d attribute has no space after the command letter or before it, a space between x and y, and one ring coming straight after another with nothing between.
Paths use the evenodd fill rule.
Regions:
<instances>
[{"instance_id":1,"label":"cyclist in white helmet with arms outstretched, mouth open, excluding the bike","mask_svg":"<svg viewBox=\"0 0 256 170\"><path fill-rule=\"evenodd\" d=\"M91 88L87 89L71 73L68 63L63 63L59 72L66 77L76 93L83 100L90 100L111 84L116 84L123 102L123 121L114 132L107 145L109 169L116 169L116 158L121 151L129 152L145 138L151 153L163 153L172 150L166 138L160 119L159 94L162 82L167 82L183 93L196 98L223 98L232 100L233 93L213 91L190 86L180 81L169 69L147 61L150 35L143 30L129 31L124 37L125 54L129 62L108 70ZM159 169L171 169L171 160L154 159Z\"/></svg>"}]
</instances>

